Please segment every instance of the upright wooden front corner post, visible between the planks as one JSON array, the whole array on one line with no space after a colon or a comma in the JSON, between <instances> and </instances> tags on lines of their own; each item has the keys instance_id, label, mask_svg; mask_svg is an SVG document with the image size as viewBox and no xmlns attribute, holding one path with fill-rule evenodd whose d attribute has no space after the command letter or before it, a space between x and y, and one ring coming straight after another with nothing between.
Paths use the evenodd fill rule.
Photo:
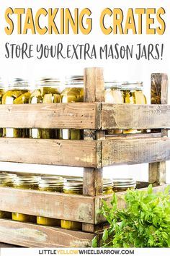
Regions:
<instances>
[{"instance_id":1,"label":"upright wooden front corner post, visible between the planks","mask_svg":"<svg viewBox=\"0 0 170 256\"><path fill-rule=\"evenodd\" d=\"M99 102L104 101L104 77L102 68L84 69L84 102ZM100 116L99 116L100 117ZM104 140L103 131L84 130L84 140ZM84 195L102 195L103 191L103 170L101 168L102 160L102 142L97 144L97 167L84 168ZM95 211L95 208L94 208ZM84 231L91 231L86 223L83 223Z\"/></svg>"}]
</instances>

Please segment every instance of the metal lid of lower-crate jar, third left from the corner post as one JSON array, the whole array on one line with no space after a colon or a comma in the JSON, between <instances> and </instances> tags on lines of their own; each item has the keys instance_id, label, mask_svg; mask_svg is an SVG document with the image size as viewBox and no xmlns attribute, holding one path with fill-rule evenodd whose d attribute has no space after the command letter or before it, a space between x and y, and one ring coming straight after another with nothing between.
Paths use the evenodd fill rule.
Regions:
<instances>
[{"instance_id":1,"label":"metal lid of lower-crate jar, third left from the corner post","mask_svg":"<svg viewBox=\"0 0 170 256\"><path fill-rule=\"evenodd\" d=\"M14 179L14 185L19 186L19 185L38 185L40 181L39 176L17 176Z\"/></svg>"}]
</instances>

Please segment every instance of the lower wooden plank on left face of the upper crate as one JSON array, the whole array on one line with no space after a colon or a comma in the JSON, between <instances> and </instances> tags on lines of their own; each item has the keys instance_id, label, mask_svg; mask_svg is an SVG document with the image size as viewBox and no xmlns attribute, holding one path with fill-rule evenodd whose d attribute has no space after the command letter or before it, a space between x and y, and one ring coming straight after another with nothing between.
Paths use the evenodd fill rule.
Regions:
<instances>
[{"instance_id":1,"label":"lower wooden plank on left face of the upper crate","mask_svg":"<svg viewBox=\"0 0 170 256\"><path fill-rule=\"evenodd\" d=\"M0 161L60 166L97 166L97 145L85 140L0 138Z\"/></svg>"}]
</instances>

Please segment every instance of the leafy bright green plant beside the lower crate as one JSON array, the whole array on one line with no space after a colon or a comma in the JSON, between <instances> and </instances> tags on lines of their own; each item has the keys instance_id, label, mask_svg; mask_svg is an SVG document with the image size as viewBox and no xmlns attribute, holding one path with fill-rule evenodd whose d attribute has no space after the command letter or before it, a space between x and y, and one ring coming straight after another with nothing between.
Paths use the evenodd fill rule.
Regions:
<instances>
[{"instance_id":1,"label":"leafy bright green plant beside the lower crate","mask_svg":"<svg viewBox=\"0 0 170 256\"><path fill-rule=\"evenodd\" d=\"M128 190L123 197L125 209L117 208L116 194L111 207L103 200L99 210L108 221L109 229L102 236L102 247L170 247L170 186L164 192ZM97 237L92 241L97 247Z\"/></svg>"}]
</instances>

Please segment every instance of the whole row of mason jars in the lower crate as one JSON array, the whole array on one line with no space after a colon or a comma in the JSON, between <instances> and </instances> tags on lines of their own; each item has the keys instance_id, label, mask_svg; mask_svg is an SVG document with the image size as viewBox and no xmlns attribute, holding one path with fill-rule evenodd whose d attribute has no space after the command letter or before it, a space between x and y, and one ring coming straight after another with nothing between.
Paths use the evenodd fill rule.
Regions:
<instances>
[{"instance_id":1,"label":"whole row of mason jars in the lower crate","mask_svg":"<svg viewBox=\"0 0 170 256\"><path fill-rule=\"evenodd\" d=\"M103 179L103 194L135 188L133 179ZM15 187L18 189L38 189L47 192L63 192L71 195L83 194L83 179L61 176L17 176L16 174L0 174L0 187ZM22 202L21 202L22 203ZM29 216L23 213L1 211L0 218L12 218L13 221L32 222L45 226L61 226L63 229L80 229L81 223L76 221L59 220L43 216Z\"/></svg>"}]
</instances>

